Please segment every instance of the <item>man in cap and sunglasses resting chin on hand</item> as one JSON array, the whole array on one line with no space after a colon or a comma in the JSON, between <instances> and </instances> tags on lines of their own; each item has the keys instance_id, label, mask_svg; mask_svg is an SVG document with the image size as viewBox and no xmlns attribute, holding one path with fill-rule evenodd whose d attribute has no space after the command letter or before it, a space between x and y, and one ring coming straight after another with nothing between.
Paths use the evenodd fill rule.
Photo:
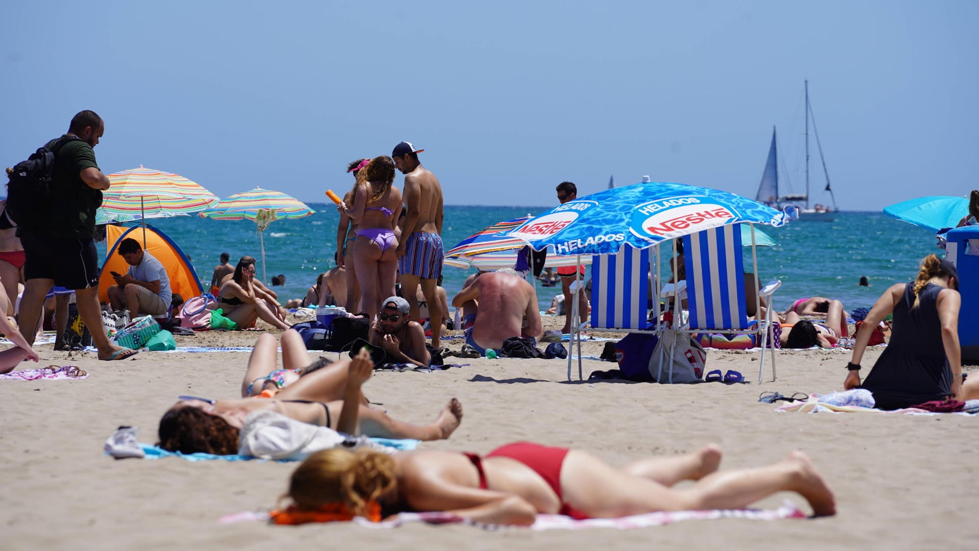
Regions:
<instances>
[{"instance_id":1,"label":"man in cap and sunglasses resting chin on hand","mask_svg":"<svg viewBox=\"0 0 979 551\"><path fill-rule=\"evenodd\" d=\"M386 363L428 367L432 355L425 347L425 329L411 321L408 301L390 296L382 305L377 322L370 326L370 343L384 349Z\"/></svg>"}]
</instances>

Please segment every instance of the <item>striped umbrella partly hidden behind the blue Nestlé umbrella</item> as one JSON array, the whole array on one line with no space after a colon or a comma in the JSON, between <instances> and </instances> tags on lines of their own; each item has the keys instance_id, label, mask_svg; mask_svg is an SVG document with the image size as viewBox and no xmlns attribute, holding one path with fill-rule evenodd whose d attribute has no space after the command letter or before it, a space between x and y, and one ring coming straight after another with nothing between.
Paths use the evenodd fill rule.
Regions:
<instances>
[{"instance_id":1,"label":"striped umbrella partly hidden behind the blue Nestl\u00e9 umbrella","mask_svg":"<svg viewBox=\"0 0 979 551\"><path fill-rule=\"evenodd\" d=\"M515 237L500 237L500 233L510 231L533 218L515 218L490 225L466 237L459 244L445 252L444 264L455 268L477 268L479 270L496 270L513 268L517 263L520 249L527 246L523 239ZM577 266L575 255L556 255L548 251L544 266L553 268ZM591 257L584 264L591 264Z\"/></svg>"}]
</instances>

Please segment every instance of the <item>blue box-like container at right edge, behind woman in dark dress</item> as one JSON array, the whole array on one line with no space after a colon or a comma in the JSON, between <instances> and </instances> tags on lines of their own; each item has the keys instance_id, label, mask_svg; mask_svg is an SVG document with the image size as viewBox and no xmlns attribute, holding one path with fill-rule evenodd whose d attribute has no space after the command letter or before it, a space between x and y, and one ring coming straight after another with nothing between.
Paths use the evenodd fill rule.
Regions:
<instances>
[{"instance_id":1,"label":"blue box-like container at right edge, behind woman in dark dress","mask_svg":"<svg viewBox=\"0 0 979 551\"><path fill-rule=\"evenodd\" d=\"M958 313L958 344L962 361L979 360L979 225L963 225L945 234L946 258L956 265L958 293L962 307Z\"/></svg>"}]
</instances>

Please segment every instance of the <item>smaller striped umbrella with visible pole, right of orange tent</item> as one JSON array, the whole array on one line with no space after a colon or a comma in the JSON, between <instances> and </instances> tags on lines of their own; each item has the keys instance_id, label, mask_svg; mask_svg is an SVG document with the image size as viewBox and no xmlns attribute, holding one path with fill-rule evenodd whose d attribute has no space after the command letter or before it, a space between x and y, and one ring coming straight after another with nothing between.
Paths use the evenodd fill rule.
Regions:
<instances>
[{"instance_id":1,"label":"smaller striped umbrella with visible pole, right of orange tent","mask_svg":"<svg viewBox=\"0 0 979 551\"><path fill-rule=\"evenodd\" d=\"M303 218L316 211L303 201L271 189L256 187L251 191L235 193L221 199L220 203L198 213L201 218L214 220L251 220L258 227L261 245L261 278L265 280L265 240L263 233L272 222L280 219Z\"/></svg>"}]
</instances>

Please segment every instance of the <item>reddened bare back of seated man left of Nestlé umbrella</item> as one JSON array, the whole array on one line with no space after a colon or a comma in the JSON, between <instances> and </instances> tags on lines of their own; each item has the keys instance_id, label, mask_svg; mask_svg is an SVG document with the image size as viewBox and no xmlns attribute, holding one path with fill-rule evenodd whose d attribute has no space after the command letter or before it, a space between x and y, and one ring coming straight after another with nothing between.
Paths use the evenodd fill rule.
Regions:
<instances>
[{"instance_id":1,"label":"reddened bare back of seated man left of Nestl\u00e9 umbrella","mask_svg":"<svg viewBox=\"0 0 979 551\"><path fill-rule=\"evenodd\" d=\"M499 347L503 340L520 336L524 315L531 301L530 284L507 274L480 275L473 283L480 293L479 315L473 336L487 347Z\"/></svg>"}]
</instances>

